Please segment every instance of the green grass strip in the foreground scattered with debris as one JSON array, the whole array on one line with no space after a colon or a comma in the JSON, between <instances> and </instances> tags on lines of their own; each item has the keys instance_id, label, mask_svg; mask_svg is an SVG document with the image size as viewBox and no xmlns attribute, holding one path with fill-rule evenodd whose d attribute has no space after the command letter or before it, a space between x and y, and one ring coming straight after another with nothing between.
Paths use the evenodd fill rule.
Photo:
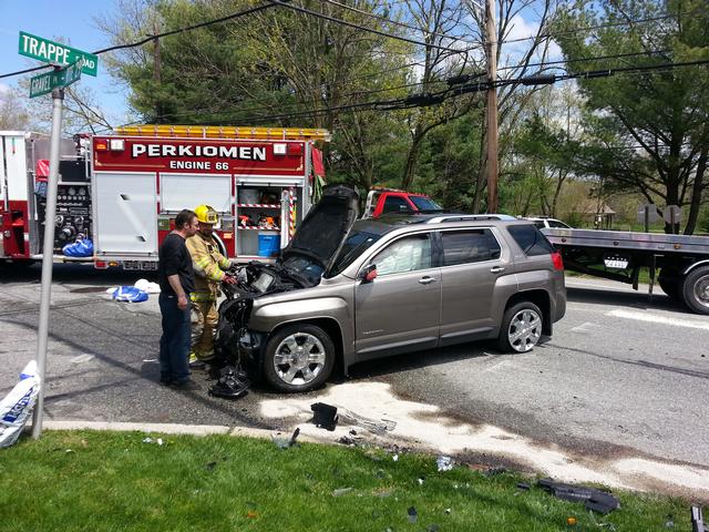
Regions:
<instances>
[{"instance_id":1,"label":"green grass strip in the foreground scattered with debris","mask_svg":"<svg viewBox=\"0 0 709 532\"><path fill-rule=\"evenodd\" d=\"M157 446L144 438L50 431L0 450L0 530L645 532L666 530L669 514L674 530L690 530L678 499L616 492L621 508L604 516L553 498L534 479L464 466L438 472L435 457L423 454L394 461L374 448L284 450L226 436L163 436ZM518 489L521 481L532 489Z\"/></svg>"}]
</instances>

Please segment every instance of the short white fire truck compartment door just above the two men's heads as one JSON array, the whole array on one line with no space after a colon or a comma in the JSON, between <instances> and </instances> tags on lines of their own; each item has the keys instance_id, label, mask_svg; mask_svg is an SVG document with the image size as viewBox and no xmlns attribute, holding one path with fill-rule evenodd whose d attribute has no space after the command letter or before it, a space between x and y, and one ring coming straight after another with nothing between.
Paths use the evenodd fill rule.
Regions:
<instances>
[{"instance_id":1,"label":"short white fire truck compartment door just above the two men's heads","mask_svg":"<svg viewBox=\"0 0 709 532\"><path fill-rule=\"evenodd\" d=\"M210 205L218 213L232 212L230 175L160 174L160 205L178 213L183 208Z\"/></svg>"}]
</instances>

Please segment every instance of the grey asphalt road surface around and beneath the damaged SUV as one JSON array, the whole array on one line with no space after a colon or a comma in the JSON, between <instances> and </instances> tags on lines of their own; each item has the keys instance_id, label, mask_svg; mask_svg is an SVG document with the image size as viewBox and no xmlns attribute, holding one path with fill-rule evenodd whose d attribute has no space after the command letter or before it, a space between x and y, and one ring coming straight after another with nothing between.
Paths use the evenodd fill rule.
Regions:
<instances>
[{"instance_id":1,"label":"grey asphalt road surface around and beneath the damaged SUV","mask_svg":"<svg viewBox=\"0 0 709 532\"><path fill-rule=\"evenodd\" d=\"M195 372L203 391L160 386L157 298L130 305L105 295L137 278L56 265L47 419L276 430L298 422L287 410L265 415L265 405L292 400L268 389L233 402L210 398L203 372ZM661 291L650 301L616 283L567 284L566 317L530 354L469 344L403 355L356 366L325 391L389 385L398 400L439 407L441 423L494 426L572 457L709 468L709 317L689 314ZM0 268L0 397L34 357L39 298L39 266Z\"/></svg>"}]
</instances>

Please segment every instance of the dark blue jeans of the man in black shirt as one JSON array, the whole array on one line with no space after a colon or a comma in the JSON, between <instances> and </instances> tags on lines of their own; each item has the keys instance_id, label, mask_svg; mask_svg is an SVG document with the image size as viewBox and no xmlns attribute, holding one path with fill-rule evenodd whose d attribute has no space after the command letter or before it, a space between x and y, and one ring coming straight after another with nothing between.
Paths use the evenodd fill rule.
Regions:
<instances>
[{"instance_id":1,"label":"dark blue jeans of the man in black shirt","mask_svg":"<svg viewBox=\"0 0 709 532\"><path fill-rule=\"evenodd\" d=\"M189 379L189 304L181 310L177 296L160 295L163 336L160 339L160 378L163 382L185 382Z\"/></svg>"}]
</instances>

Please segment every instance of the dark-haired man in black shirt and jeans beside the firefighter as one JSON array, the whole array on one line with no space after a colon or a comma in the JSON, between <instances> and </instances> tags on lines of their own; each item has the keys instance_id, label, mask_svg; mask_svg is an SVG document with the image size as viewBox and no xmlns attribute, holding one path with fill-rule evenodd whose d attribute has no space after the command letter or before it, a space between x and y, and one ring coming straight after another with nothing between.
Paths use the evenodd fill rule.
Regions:
<instances>
[{"instance_id":1,"label":"dark-haired man in black shirt and jeans beside the firefighter","mask_svg":"<svg viewBox=\"0 0 709 532\"><path fill-rule=\"evenodd\" d=\"M160 339L160 381L179 389L199 389L189 378L191 342L189 293L195 288L192 257L185 239L197 233L197 215L181 211L175 231L160 246L160 311L163 315L163 336Z\"/></svg>"}]
</instances>

